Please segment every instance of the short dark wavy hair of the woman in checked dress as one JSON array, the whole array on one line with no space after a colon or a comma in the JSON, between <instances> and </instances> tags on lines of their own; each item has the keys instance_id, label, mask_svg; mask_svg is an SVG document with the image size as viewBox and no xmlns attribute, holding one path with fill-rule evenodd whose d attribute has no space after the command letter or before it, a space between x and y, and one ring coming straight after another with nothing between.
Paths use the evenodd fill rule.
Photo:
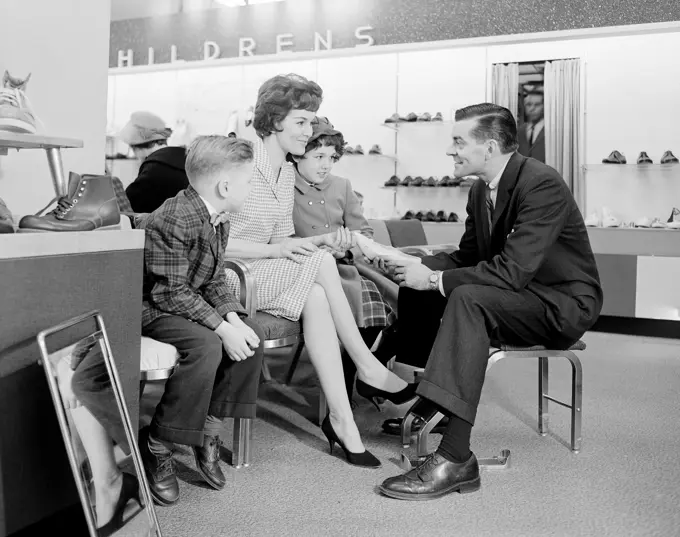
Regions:
<instances>
[{"instance_id":1,"label":"short dark wavy hair of the woman in checked dress","mask_svg":"<svg viewBox=\"0 0 680 537\"><path fill-rule=\"evenodd\" d=\"M280 132L277 123L291 110L317 112L323 100L323 90L305 77L289 74L267 80L257 92L253 127L260 138Z\"/></svg>"}]
</instances>

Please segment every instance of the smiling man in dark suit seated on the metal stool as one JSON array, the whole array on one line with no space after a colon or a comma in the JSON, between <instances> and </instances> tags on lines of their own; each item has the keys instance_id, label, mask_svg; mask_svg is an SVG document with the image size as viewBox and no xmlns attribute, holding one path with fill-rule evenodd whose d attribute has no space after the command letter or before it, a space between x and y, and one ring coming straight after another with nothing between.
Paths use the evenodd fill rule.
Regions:
<instances>
[{"instance_id":1,"label":"smiling man in dark suit seated on the metal stool","mask_svg":"<svg viewBox=\"0 0 680 537\"><path fill-rule=\"evenodd\" d=\"M516 152L506 108L456 112L455 175L477 175L453 254L389 261L399 291L397 361L425 366L417 414L448 416L437 451L383 494L432 499L480 487L470 451L491 342L567 348L596 321L602 288L583 217L549 166Z\"/></svg>"}]
</instances>

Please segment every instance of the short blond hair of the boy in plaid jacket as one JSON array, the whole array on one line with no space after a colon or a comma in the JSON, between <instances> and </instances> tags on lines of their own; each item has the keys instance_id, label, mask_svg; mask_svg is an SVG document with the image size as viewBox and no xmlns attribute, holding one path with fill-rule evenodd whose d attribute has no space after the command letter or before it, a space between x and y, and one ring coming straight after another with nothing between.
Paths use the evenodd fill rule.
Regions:
<instances>
[{"instance_id":1,"label":"short blond hair of the boy in plaid jacket","mask_svg":"<svg viewBox=\"0 0 680 537\"><path fill-rule=\"evenodd\" d=\"M225 168L252 162L253 144L241 138L218 134L197 136L187 151L184 165L189 182L215 177Z\"/></svg>"}]
</instances>

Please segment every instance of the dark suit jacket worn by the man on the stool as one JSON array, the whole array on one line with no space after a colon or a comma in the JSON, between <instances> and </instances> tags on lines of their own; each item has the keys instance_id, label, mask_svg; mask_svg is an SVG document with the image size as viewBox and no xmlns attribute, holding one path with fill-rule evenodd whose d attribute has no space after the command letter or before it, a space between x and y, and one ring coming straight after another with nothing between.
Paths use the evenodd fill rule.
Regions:
<instances>
[{"instance_id":1,"label":"dark suit jacket worn by the man on the stool","mask_svg":"<svg viewBox=\"0 0 680 537\"><path fill-rule=\"evenodd\" d=\"M547 305L556 329L581 337L597 320L603 296L588 232L566 183L553 168L514 153L498 184L491 230L486 188L481 180L470 188L460 248L423 263L444 271L447 296L466 284L526 289ZM577 297L584 297L578 307Z\"/></svg>"}]
</instances>

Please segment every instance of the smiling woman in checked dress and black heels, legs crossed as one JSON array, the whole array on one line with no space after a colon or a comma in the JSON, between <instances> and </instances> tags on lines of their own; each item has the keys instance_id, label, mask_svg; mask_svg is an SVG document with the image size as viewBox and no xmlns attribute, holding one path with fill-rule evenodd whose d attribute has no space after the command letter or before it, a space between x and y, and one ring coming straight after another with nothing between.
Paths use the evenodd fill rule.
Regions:
<instances>
[{"instance_id":1,"label":"smiling woman in checked dress and black heels, legs crossed","mask_svg":"<svg viewBox=\"0 0 680 537\"><path fill-rule=\"evenodd\" d=\"M304 154L322 95L318 84L298 75L276 76L260 87L252 190L243 210L230 214L227 257L247 262L257 281L258 310L294 321L302 318L307 352L330 410L321 428L331 451L338 443L351 464L378 467L380 462L361 441L341 380L338 337L357 366L357 390L364 395L401 404L415 397L415 385L407 385L368 349L335 259L319 249L347 249L347 241L333 234L292 238L295 170L286 157ZM229 272L227 281L238 293L236 275Z\"/></svg>"}]
</instances>

